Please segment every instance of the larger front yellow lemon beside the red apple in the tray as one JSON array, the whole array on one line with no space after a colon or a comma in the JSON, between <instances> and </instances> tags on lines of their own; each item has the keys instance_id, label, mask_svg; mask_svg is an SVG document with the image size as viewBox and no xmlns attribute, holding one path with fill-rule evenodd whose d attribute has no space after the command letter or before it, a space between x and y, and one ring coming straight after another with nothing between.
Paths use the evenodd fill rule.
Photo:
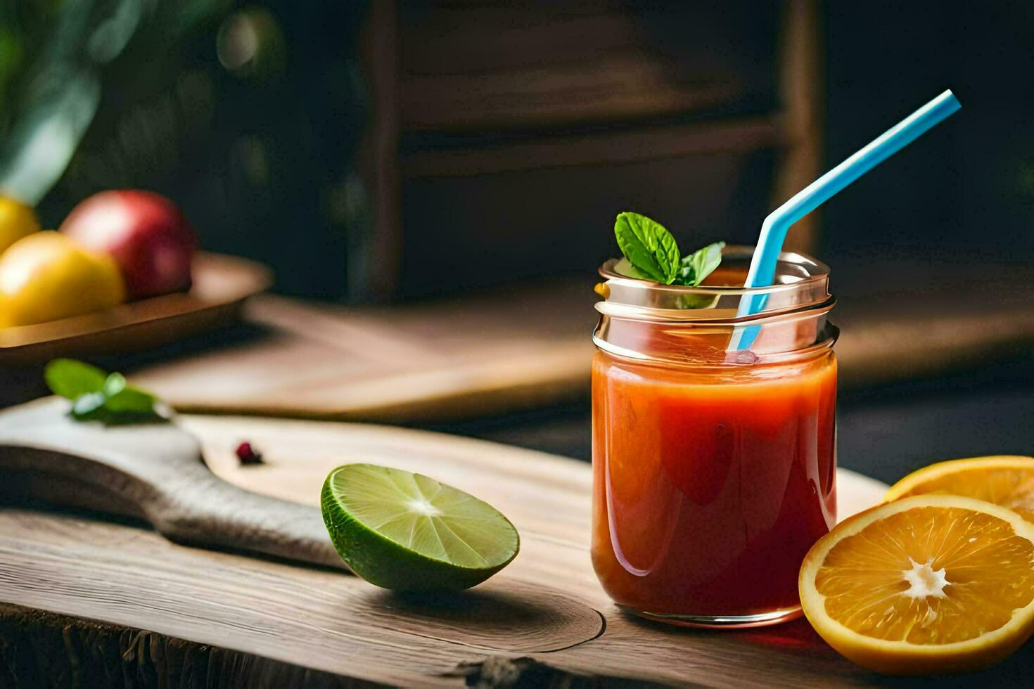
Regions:
<instances>
[{"instance_id":1,"label":"larger front yellow lemon beside the red apple in the tray","mask_svg":"<svg viewBox=\"0 0 1034 689\"><path fill-rule=\"evenodd\" d=\"M115 260L64 234L35 232L0 255L0 326L91 313L124 300Z\"/></svg>"}]
</instances>

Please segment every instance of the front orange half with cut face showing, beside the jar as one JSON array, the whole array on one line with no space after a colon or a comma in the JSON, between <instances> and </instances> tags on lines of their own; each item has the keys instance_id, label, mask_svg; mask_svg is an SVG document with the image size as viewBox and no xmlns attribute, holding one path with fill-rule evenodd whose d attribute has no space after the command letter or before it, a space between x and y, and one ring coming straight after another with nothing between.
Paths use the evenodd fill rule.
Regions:
<instances>
[{"instance_id":1,"label":"front orange half with cut face showing, beside the jar","mask_svg":"<svg viewBox=\"0 0 1034 689\"><path fill-rule=\"evenodd\" d=\"M819 635L863 667L977 669L1034 631L1034 524L973 498L904 498L820 538L798 588Z\"/></svg>"}]
</instances>

